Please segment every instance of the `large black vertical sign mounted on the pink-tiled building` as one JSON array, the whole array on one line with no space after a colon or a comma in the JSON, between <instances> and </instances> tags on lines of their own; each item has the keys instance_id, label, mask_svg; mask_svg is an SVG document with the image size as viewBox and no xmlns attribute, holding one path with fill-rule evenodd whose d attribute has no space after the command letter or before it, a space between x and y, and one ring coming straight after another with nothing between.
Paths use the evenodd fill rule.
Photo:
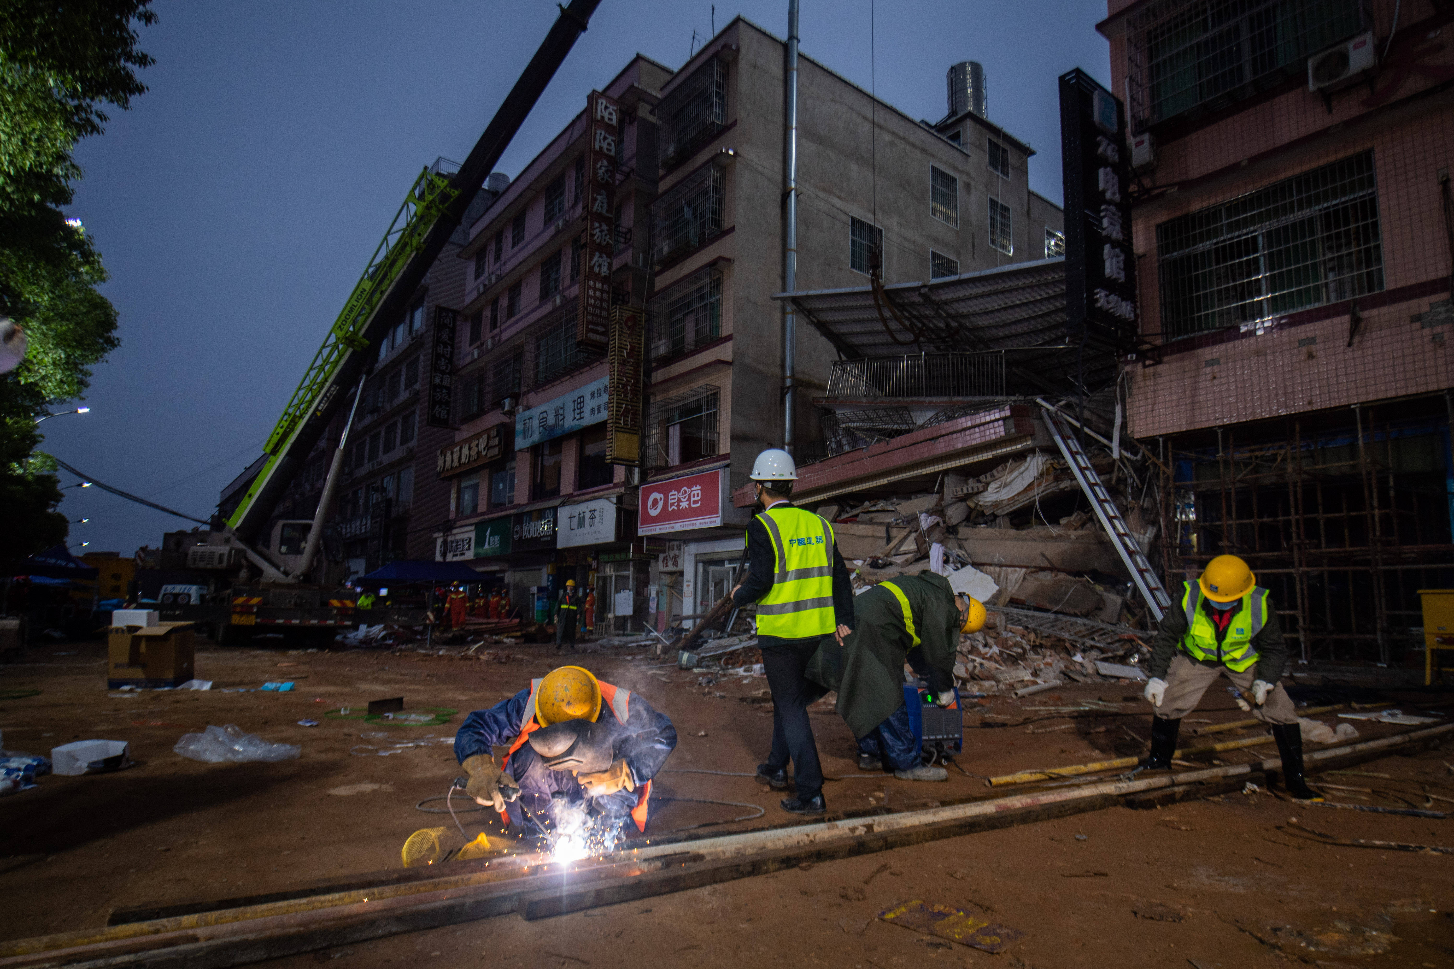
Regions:
<instances>
[{"instance_id":1,"label":"large black vertical sign mounted on the pink-tiled building","mask_svg":"<svg viewBox=\"0 0 1454 969\"><path fill-rule=\"evenodd\" d=\"M1080 70L1060 77L1066 193L1066 315L1072 338L1137 338L1125 108Z\"/></svg>"}]
</instances>

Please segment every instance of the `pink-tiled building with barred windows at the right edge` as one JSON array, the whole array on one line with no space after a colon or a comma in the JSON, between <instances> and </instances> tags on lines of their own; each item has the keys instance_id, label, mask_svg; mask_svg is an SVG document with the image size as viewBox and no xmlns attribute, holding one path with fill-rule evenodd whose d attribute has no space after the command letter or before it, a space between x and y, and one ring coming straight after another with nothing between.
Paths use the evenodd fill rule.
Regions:
<instances>
[{"instance_id":1,"label":"pink-tiled building with barred windows at the right edge","mask_svg":"<svg viewBox=\"0 0 1454 969\"><path fill-rule=\"evenodd\" d=\"M1303 660L1394 662L1450 552L1454 10L1111 0L1137 166L1128 430L1166 571L1246 558Z\"/></svg>"}]
</instances>

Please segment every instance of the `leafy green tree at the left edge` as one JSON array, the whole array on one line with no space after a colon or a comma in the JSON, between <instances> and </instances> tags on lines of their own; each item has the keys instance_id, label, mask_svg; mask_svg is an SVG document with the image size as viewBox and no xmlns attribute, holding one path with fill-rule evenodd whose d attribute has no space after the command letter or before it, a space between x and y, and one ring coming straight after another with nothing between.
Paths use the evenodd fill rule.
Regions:
<instances>
[{"instance_id":1,"label":"leafy green tree at the left edge","mask_svg":"<svg viewBox=\"0 0 1454 969\"><path fill-rule=\"evenodd\" d=\"M81 177L71 151L99 135L102 109L144 93L137 25L150 0L0 0L0 314L26 330L26 359L0 378L0 558L63 542L54 465L35 417L84 395L90 368L119 344L116 309L96 292L100 254L61 206Z\"/></svg>"}]
</instances>

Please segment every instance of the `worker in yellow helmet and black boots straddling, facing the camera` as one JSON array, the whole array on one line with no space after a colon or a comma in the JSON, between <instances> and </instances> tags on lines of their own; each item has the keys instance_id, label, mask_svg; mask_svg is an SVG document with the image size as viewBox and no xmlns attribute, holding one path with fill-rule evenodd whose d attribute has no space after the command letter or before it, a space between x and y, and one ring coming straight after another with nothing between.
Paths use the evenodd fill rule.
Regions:
<instances>
[{"instance_id":1,"label":"worker in yellow helmet and black boots straddling, facing the camera","mask_svg":"<svg viewBox=\"0 0 1454 969\"><path fill-rule=\"evenodd\" d=\"M1303 779L1303 734L1293 699L1278 681L1287 668L1287 642L1268 596L1252 569L1236 555L1207 562L1201 578L1182 583L1181 600L1162 619L1152 639L1146 699L1152 718L1152 753L1143 761L1168 770L1184 716L1224 676L1252 703L1239 703L1271 725L1282 757L1282 782L1298 800L1322 800Z\"/></svg>"}]
</instances>

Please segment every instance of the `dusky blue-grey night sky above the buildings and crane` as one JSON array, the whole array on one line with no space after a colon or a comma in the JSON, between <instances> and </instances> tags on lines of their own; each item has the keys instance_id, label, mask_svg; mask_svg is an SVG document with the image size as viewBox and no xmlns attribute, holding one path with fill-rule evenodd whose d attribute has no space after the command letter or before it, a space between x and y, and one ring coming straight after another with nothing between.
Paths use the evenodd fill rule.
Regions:
<instances>
[{"instance_id":1,"label":"dusky blue-grey night sky above the buildings and crane","mask_svg":"<svg viewBox=\"0 0 1454 969\"><path fill-rule=\"evenodd\" d=\"M515 176L641 52L679 67L711 4L605 0L497 170ZM717 4L787 33L785 0ZM419 170L462 160L535 52L553 1L337 0L154 6L157 64L131 112L80 144L71 215L112 275L121 349L92 413L44 426L42 450L205 519L260 453L284 404ZM1109 83L1104 3L803 0L803 54L915 118L945 113L949 64L984 64L990 121L1031 144L1031 187L1060 200L1056 78ZM698 38L694 45L694 31ZM869 70L875 36L877 78ZM57 407L55 410L63 410ZM74 484L63 474L63 484ZM131 555L190 523L68 488L70 542ZM74 549L80 552L81 549Z\"/></svg>"}]
</instances>

